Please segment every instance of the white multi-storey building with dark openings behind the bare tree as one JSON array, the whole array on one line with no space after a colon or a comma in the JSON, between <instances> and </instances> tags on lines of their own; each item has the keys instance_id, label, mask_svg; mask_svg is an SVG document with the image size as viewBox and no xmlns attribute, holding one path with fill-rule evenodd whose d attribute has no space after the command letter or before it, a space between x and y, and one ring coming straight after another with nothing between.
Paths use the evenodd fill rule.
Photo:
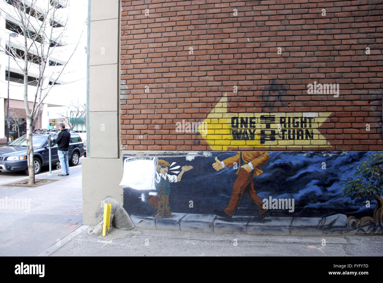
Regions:
<instances>
[{"instance_id":1,"label":"white multi-storey building with dark openings behind the bare tree","mask_svg":"<svg viewBox=\"0 0 383 283\"><path fill-rule=\"evenodd\" d=\"M57 1L56 1L57 2ZM22 123L21 127L25 125L26 120L26 112L25 112L25 104L24 104L24 94L23 94L23 72L21 71L18 63L21 63L21 60L18 60L16 62L12 56L8 56L8 50L12 49L15 54L21 55L23 54L23 40L24 36L21 35L22 31L20 28L20 22L17 20L17 12L15 9L17 9L19 3L21 3L18 0L5 0L0 2L0 120L5 121L4 126L1 125L0 127L0 138L5 138L7 135L7 112L9 108L10 118L16 117L18 118ZM30 8L30 13L34 17L36 17L36 21L39 21L38 19L38 13L41 11L40 7L44 7L44 5L47 5L49 1L46 0L38 0L38 1L26 1L27 5L31 5L33 3L32 8ZM53 5L55 2L51 1L51 4ZM66 2L60 1L57 2L58 6L60 7L60 12L53 20L51 20L51 24L55 25L54 30L57 30L57 33L60 33L60 31L63 29L64 23L61 19L63 19L63 15L67 13ZM32 14L36 11L36 13ZM28 38L28 41L31 41L32 39ZM59 71L60 68L65 64L60 60L59 58L62 58L62 48L64 48L65 42L60 41L59 43L55 42L55 36L54 33L52 33L51 37L51 44L56 44L57 46L54 47L54 56L51 56L49 58L49 66L46 68L46 73L48 74L54 74L55 72ZM41 67L38 63L38 61L34 61L33 56L36 56L35 54L36 50L30 51L31 58L28 58L29 60L29 69L28 69L28 103L29 108L32 109L33 107L33 101L34 101L34 93L36 93L37 84L36 84L36 77L39 76L39 67ZM8 64L9 62L9 64ZM9 72L9 100L8 100L8 72ZM50 86L52 84L64 84L66 81L63 80L57 80L55 81L54 78L51 78L47 76L43 80L44 86ZM43 91L44 95L44 91ZM53 87L49 95L44 99L44 103L41 105L40 114L38 117L38 120L36 122L35 128L47 128L49 125L48 122L48 114L49 114L49 107L51 106L62 106L62 102L59 102L57 100L57 97L62 95L61 90ZM15 119L11 119L15 120ZM14 126L13 122L11 122L9 125L9 132L14 132Z\"/></svg>"}]
</instances>

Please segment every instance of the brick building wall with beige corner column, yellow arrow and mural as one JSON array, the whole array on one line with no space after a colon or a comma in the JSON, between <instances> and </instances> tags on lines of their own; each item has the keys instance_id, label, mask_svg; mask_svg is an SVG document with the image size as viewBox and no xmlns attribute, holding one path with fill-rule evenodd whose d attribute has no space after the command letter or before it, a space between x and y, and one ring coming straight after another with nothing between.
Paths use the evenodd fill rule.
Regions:
<instances>
[{"instance_id":1,"label":"brick building wall with beige corner column, yellow arrow and mural","mask_svg":"<svg viewBox=\"0 0 383 283\"><path fill-rule=\"evenodd\" d=\"M154 229L381 233L382 20L373 0L92 0L84 224L114 197Z\"/></svg>"}]
</instances>

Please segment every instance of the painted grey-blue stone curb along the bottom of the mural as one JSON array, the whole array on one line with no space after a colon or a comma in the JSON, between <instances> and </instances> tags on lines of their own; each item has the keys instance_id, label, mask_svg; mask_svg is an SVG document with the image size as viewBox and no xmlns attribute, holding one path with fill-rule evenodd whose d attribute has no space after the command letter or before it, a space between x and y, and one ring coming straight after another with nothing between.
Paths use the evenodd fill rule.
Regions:
<instances>
[{"instance_id":1,"label":"painted grey-blue stone curb along the bottom of the mural","mask_svg":"<svg viewBox=\"0 0 383 283\"><path fill-rule=\"evenodd\" d=\"M248 235L354 235L363 230L347 230L347 216L336 214L328 217L265 217L233 216L225 219L212 214L177 213L173 218L155 218L131 215L139 228L177 231L203 231L215 234ZM381 230L380 230L380 234Z\"/></svg>"}]
</instances>

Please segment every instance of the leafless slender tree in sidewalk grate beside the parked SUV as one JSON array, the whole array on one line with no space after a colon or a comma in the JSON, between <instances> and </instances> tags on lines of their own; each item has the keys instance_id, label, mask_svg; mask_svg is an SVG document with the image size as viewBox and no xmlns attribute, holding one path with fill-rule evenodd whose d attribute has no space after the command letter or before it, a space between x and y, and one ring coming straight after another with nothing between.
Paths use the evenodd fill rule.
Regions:
<instances>
[{"instance_id":1,"label":"leafless slender tree in sidewalk grate beside the parked SUV","mask_svg":"<svg viewBox=\"0 0 383 283\"><path fill-rule=\"evenodd\" d=\"M20 46L7 45L7 52L20 68L24 78L24 103L26 111L26 142L29 184L34 184L34 154L32 131L36 124L41 104L48 95L49 91L55 86L57 80L67 66L70 58L77 48L79 41L75 44L73 53L69 58L60 58L60 62L53 61L55 49L64 44L66 18L61 17L58 11L62 8L62 1L59 0L6 0L13 9L10 18L7 17L8 29L22 36ZM38 5L37 5L38 4ZM9 5L8 5L9 6ZM3 15L6 11L2 11ZM9 19L9 20L8 20ZM80 40L80 39L79 39ZM57 50L56 50L57 52ZM49 66L59 66L51 70ZM36 88L33 93L31 109L28 105L28 71L33 68L38 73L34 85ZM29 77L30 79L30 77Z\"/></svg>"}]
</instances>

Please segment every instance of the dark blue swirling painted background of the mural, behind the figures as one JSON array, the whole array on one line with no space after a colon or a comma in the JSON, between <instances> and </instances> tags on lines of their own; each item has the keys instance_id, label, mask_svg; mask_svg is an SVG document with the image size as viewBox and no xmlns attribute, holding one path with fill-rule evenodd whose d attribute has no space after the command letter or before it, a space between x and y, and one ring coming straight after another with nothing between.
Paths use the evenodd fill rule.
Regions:
<instances>
[{"instance_id":1,"label":"dark blue swirling painted background of the mural, behind the figures","mask_svg":"<svg viewBox=\"0 0 383 283\"><path fill-rule=\"evenodd\" d=\"M351 179L361 161L368 160L372 151L331 151L331 152L270 152L270 160L261 166L262 176L253 178L254 188L261 199L293 198L295 211L273 210L274 216L322 217L332 214L372 213L375 204L366 208L362 202L354 202L342 192L342 182ZM169 196L172 213L214 214L213 210L223 210L230 201L232 186L236 180L233 167L216 172L212 164L214 158L220 161L235 155L236 152L205 152L205 156L162 156L173 166L191 165L179 183L171 184ZM192 159L192 160L190 160ZM322 169L322 162L326 169ZM179 170L179 169L178 169ZM177 170L177 171L178 171ZM171 170L169 170L169 174ZM155 214L147 202L141 200L142 191L124 189L124 207L134 214ZM147 194L147 191L144 193ZM189 207L193 201L193 208ZM154 215L153 214L153 215ZM236 215L257 216L257 208L250 203L246 192Z\"/></svg>"}]
</instances>

